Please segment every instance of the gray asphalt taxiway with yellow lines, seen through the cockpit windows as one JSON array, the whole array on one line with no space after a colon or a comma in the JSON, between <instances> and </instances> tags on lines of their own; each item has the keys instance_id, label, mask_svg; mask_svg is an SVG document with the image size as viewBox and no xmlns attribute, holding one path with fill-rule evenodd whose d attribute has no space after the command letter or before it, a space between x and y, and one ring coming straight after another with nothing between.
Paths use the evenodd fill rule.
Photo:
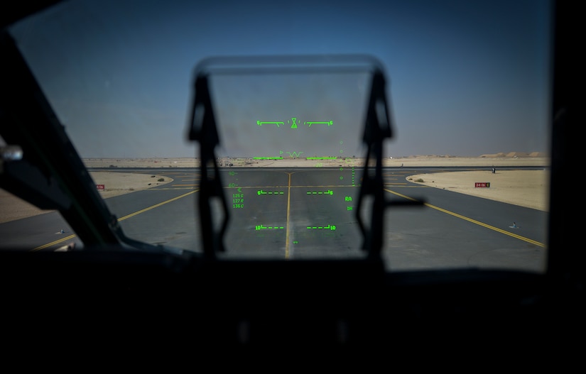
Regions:
<instances>
[{"instance_id":1,"label":"gray asphalt taxiway with yellow lines, seen through the cockpit windows","mask_svg":"<svg viewBox=\"0 0 586 374\"><path fill-rule=\"evenodd\" d=\"M425 202L419 207L386 209L381 255L389 270L545 270L547 212L405 179L437 170L384 170L387 200ZM168 175L174 182L106 199L124 233L148 243L202 251L199 170L131 171ZM362 235L357 226L361 176L362 170L352 167L222 170L229 229L224 239L227 252L220 257L362 258L366 253L360 249ZM219 203L213 204L213 211L220 216ZM367 211L362 212L366 221ZM54 251L67 243L82 244L58 213L0 224L0 237L5 249Z\"/></svg>"}]
</instances>

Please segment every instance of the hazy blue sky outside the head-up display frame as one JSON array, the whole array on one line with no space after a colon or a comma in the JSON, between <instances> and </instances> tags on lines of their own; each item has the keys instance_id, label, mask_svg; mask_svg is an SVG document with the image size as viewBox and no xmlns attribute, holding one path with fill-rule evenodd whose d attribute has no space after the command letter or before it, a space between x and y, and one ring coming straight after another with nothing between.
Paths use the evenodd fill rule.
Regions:
<instances>
[{"instance_id":1,"label":"hazy blue sky outside the head-up display frame","mask_svg":"<svg viewBox=\"0 0 586 374\"><path fill-rule=\"evenodd\" d=\"M547 153L550 8L543 0L74 0L11 32L83 158L195 155L186 132L194 67L205 57L329 53L383 63L395 133L386 155ZM336 108L322 116L348 118Z\"/></svg>"}]
</instances>

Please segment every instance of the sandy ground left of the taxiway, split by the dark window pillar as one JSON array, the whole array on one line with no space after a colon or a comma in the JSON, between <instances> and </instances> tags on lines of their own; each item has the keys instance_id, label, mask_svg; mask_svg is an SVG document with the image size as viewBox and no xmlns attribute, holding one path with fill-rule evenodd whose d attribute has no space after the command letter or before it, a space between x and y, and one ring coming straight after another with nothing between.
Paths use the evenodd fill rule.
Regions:
<instances>
[{"instance_id":1,"label":"sandy ground left of the taxiway, split by the dark window pillar","mask_svg":"<svg viewBox=\"0 0 586 374\"><path fill-rule=\"evenodd\" d=\"M96 185L104 185L104 190L99 191L103 199L173 182L173 179L167 176L134 172L89 172L89 174ZM161 178L163 178L162 182L159 181ZM38 209L33 204L14 196L4 189L0 189L0 207L2 207L0 210L0 224L51 211Z\"/></svg>"}]
</instances>

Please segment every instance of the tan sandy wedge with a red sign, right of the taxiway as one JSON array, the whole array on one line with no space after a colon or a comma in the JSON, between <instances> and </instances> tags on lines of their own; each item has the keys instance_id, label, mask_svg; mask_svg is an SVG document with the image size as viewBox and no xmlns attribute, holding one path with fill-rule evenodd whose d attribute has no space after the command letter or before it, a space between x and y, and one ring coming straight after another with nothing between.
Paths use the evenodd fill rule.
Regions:
<instances>
[{"instance_id":1,"label":"tan sandy wedge with a red sign, right of the taxiway","mask_svg":"<svg viewBox=\"0 0 586 374\"><path fill-rule=\"evenodd\" d=\"M491 170L483 170L435 172L411 175L406 179L420 185L548 211L549 177L549 170L496 170L494 174ZM475 187L477 182L490 185Z\"/></svg>"}]
</instances>

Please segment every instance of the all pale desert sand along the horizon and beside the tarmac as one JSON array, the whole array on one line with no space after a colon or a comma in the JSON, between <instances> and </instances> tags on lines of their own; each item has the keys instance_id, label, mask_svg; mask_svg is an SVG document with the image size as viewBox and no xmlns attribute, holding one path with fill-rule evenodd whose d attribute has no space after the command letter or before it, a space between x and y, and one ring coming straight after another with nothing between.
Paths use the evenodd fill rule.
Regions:
<instances>
[{"instance_id":1,"label":"all pale desert sand along the horizon and beside the tarmac","mask_svg":"<svg viewBox=\"0 0 586 374\"><path fill-rule=\"evenodd\" d=\"M167 176L150 175L138 172L120 172L117 168L142 167L199 167L195 158L137 158L137 159L92 159L84 160L89 168L90 175L97 185L104 185L105 189L99 191L104 198L127 194L141 189L161 186L173 182ZM364 160L359 158L337 158L335 160L254 160L251 158L219 159L221 167L351 167L362 166ZM523 207L548 209L548 185L549 185L549 158L538 154L497 153L494 155L481 155L477 158L459 158L437 155L420 155L406 158L385 158L385 167L433 167L433 166L470 166L487 167L482 171L466 172L437 172L425 175L409 175L406 180L410 182L428 185L430 187L449 189L450 191L471 194L486 199L493 199ZM499 170L503 166L543 166L543 170ZM495 167L495 172L492 172ZM107 168L111 171L92 170L94 168ZM158 182L163 178L163 182ZM474 187L475 182L489 182L488 188ZM14 197L4 189L0 189L0 223L14 219L26 218L48 211L24 202Z\"/></svg>"}]
</instances>

